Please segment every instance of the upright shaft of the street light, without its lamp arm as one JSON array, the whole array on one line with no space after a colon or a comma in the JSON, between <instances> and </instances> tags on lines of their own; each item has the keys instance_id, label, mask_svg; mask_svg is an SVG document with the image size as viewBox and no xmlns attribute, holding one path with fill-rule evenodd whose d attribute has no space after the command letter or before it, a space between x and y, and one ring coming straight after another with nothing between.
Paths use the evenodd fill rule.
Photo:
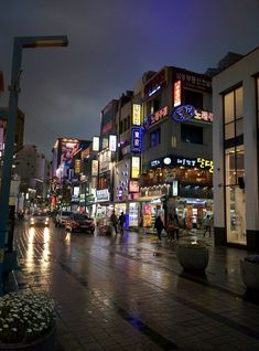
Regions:
<instances>
[{"instance_id":1,"label":"upright shaft of the street light, without its lamp arm","mask_svg":"<svg viewBox=\"0 0 259 351\"><path fill-rule=\"evenodd\" d=\"M6 237L8 235L8 220L9 220L9 194L12 176L13 162L13 145L14 145L14 130L17 124L18 113L18 97L20 92L20 75L21 75L21 61L22 61L22 45L14 39L13 54L12 54L12 71L11 71L11 85L9 87L9 109L7 120L7 136L3 153L2 167L2 182L0 191L0 296L3 295L2 288L2 272Z\"/></svg>"}]
</instances>

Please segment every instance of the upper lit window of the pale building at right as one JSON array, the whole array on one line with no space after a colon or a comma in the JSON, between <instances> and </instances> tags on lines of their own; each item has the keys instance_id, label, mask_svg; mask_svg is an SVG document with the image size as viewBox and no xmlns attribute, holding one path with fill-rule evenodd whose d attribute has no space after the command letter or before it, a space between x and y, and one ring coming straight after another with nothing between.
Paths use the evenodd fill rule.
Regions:
<instances>
[{"instance_id":1,"label":"upper lit window of the pale building at right","mask_svg":"<svg viewBox=\"0 0 259 351\"><path fill-rule=\"evenodd\" d=\"M238 87L224 95L224 126L225 140L236 143L237 137L242 135L242 87Z\"/></svg>"}]
</instances>

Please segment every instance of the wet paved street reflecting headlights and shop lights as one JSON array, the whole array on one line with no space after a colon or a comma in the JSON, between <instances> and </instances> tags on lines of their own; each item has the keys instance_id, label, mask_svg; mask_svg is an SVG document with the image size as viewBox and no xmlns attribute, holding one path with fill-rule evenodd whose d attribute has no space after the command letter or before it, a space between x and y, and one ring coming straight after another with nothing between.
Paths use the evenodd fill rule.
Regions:
<instances>
[{"instance_id":1,"label":"wet paved street reflecting headlights and shop lights","mask_svg":"<svg viewBox=\"0 0 259 351\"><path fill-rule=\"evenodd\" d=\"M71 234L24 221L14 242L21 269L10 278L55 299L56 351L259 350L259 306L245 299L239 274L246 251L206 241L206 275L194 276L165 236L159 245L147 233Z\"/></svg>"}]
</instances>

